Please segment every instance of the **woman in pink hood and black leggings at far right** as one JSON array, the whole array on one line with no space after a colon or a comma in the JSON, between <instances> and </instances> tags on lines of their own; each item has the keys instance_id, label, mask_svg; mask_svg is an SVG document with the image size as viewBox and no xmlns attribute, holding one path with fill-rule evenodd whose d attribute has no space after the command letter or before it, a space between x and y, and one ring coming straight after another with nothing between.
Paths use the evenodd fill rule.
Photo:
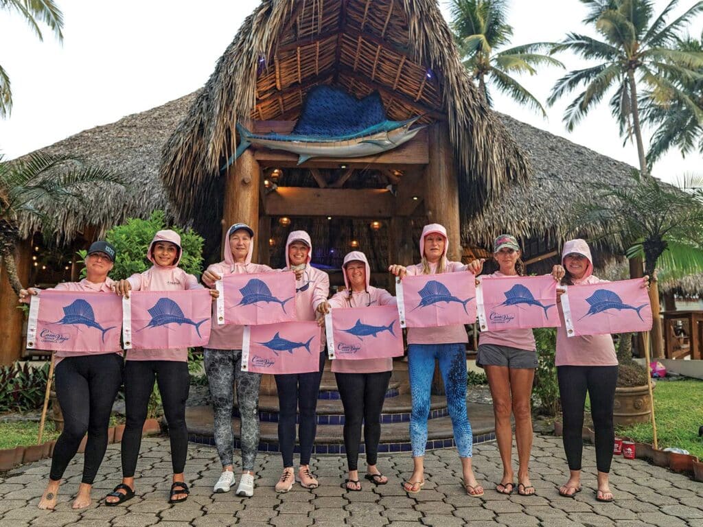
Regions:
<instances>
[{"instance_id":1,"label":"woman in pink hood and black leggings at far right","mask_svg":"<svg viewBox=\"0 0 703 527\"><path fill-rule=\"evenodd\" d=\"M562 266L555 266L554 273L563 277L562 284L567 287L607 282L593 275L591 249L584 240L569 240L565 243ZM645 276L642 287L648 286L649 278ZM563 292L563 289L557 289L557 294ZM567 337L560 299L557 299L557 303L562 323L557 328L555 365L564 418L562 441L570 472L569 481L559 488L559 493L562 496L575 497L576 493L581 492L581 430L588 392L595 428L595 465L598 469L598 490L595 499L600 502L612 502L608 473L615 438L613 403L618 370L613 339L608 334Z\"/></svg>"}]
</instances>

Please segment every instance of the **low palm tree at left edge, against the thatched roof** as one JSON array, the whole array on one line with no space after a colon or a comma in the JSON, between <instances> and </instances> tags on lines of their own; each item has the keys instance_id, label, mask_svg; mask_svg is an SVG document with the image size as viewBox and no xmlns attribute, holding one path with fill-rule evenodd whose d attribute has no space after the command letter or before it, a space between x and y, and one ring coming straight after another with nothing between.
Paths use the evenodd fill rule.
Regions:
<instances>
[{"instance_id":1,"label":"low palm tree at left edge, against the thatched roof","mask_svg":"<svg viewBox=\"0 0 703 527\"><path fill-rule=\"evenodd\" d=\"M15 268L15 246L19 240L20 214L37 216L44 234L51 232L52 221L44 214L47 204L84 200L85 184L116 183L120 176L105 169L83 167L66 155L34 153L25 159L4 161L0 155L0 260L16 294L22 284Z\"/></svg>"}]
</instances>

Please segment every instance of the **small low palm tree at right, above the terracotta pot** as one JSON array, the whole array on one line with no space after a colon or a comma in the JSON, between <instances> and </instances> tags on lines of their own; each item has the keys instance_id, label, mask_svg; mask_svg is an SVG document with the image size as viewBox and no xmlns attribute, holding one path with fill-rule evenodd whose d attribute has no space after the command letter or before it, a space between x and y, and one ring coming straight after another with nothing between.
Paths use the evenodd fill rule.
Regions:
<instances>
[{"instance_id":1,"label":"small low palm tree at right, above the terracotta pot","mask_svg":"<svg viewBox=\"0 0 703 527\"><path fill-rule=\"evenodd\" d=\"M655 357L663 356L657 267L666 266L671 275L703 272L702 189L701 178L669 185L635 172L631 185L597 187L574 210L580 222L598 223L604 236L626 247L629 259L643 256L652 283Z\"/></svg>"}]
</instances>

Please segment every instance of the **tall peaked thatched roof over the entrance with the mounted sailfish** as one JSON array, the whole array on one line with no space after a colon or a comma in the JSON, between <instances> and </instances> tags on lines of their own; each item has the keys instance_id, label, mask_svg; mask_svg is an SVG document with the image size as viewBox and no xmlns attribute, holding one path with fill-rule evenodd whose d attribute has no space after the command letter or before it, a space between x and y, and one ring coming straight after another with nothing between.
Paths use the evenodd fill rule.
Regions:
<instances>
[{"instance_id":1,"label":"tall peaked thatched roof over the entrance with the mounted sailfish","mask_svg":"<svg viewBox=\"0 0 703 527\"><path fill-rule=\"evenodd\" d=\"M446 120L468 215L529 161L461 64L436 0L263 0L169 139L161 175L195 226L221 218L219 168L238 121L292 120L311 87L379 91L389 119Z\"/></svg>"}]
</instances>

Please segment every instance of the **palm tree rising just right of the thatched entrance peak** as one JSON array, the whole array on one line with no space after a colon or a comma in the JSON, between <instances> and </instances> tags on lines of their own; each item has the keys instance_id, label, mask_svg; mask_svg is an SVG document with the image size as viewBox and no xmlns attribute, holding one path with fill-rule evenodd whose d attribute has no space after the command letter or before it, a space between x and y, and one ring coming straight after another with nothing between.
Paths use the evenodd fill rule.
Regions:
<instances>
[{"instance_id":1,"label":"palm tree rising just right of the thatched entrance peak","mask_svg":"<svg viewBox=\"0 0 703 527\"><path fill-rule=\"evenodd\" d=\"M451 0L451 26L463 64L478 83L487 103L491 104L486 86L486 82L490 82L498 91L546 117L537 98L511 75L534 75L540 65L564 65L553 57L539 53L552 48L553 44L548 42L495 51L495 48L510 44L512 37L512 26L505 21L508 11L506 4L506 0Z\"/></svg>"}]
</instances>

